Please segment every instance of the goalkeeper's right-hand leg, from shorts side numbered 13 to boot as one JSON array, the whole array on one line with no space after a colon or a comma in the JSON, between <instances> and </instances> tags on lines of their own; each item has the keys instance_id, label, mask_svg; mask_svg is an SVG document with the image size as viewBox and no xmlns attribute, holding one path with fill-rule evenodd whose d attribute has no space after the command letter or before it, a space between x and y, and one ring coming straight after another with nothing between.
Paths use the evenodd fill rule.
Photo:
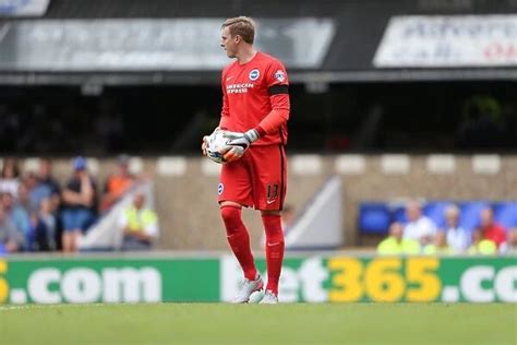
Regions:
<instances>
[{"instance_id":1,"label":"goalkeeper's right-hand leg, from shorts side numbered 13 to boot","mask_svg":"<svg viewBox=\"0 0 517 345\"><path fill-rule=\"evenodd\" d=\"M265 299L277 300L285 250L280 211L287 185L286 155L284 147L276 145L253 147L251 151L250 156L254 162L253 198L256 209L261 210L266 234L267 286Z\"/></svg>"}]
</instances>

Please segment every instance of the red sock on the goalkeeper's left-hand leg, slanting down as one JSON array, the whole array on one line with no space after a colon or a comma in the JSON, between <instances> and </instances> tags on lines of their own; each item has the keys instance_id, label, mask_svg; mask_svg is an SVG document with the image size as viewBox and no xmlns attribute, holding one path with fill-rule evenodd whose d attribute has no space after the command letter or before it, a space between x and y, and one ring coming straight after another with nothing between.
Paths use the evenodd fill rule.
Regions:
<instances>
[{"instance_id":1,"label":"red sock on the goalkeeper's left-hand leg, slanting down","mask_svg":"<svg viewBox=\"0 0 517 345\"><path fill-rule=\"evenodd\" d=\"M236 206L220 207L220 215L225 222L228 243L244 271L244 277L250 281L256 278L256 267L250 248L250 235L242 223L241 209Z\"/></svg>"}]
</instances>

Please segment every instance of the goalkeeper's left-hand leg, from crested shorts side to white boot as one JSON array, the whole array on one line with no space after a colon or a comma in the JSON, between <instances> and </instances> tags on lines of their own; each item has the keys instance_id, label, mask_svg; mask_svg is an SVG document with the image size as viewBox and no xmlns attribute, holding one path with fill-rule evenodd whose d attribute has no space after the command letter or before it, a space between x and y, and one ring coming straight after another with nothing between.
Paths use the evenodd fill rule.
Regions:
<instances>
[{"instance_id":1,"label":"goalkeeper's left-hand leg, from crested shorts side to white boot","mask_svg":"<svg viewBox=\"0 0 517 345\"><path fill-rule=\"evenodd\" d=\"M260 277L250 246L250 235L242 222L243 205L252 205L251 186L244 162L223 166L218 188L220 215L231 251L239 261L244 281L235 302L248 302L250 295L264 286Z\"/></svg>"}]
</instances>

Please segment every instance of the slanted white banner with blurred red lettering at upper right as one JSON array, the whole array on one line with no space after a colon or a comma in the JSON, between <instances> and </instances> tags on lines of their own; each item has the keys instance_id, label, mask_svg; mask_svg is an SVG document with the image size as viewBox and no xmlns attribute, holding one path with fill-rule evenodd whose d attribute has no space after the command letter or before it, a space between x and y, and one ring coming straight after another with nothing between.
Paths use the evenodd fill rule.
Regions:
<instances>
[{"instance_id":1,"label":"slanted white banner with blurred red lettering at upper right","mask_svg":"<svg viewBox=\"0 0 517 345\"><path fill-rule=\"evenodd\" d=\"M517 66L517 14L394 16L373 64L377 68Z\"/></svg>"}]
</instances>

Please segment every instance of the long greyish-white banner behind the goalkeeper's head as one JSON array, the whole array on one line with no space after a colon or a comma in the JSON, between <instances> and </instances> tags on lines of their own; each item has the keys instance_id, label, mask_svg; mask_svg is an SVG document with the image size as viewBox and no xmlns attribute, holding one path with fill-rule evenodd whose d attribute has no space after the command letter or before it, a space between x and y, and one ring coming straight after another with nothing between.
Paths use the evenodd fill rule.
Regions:
<instances>
[{"instance_id":1,"label":"long greyish-white banner behind the goalkeeper's head","mask_svg":"<svg viewBox=\"0 0 517 345\"><path fill-rule=\"evenodd\" d=\"M1 1L1 0L0 0ZM220 48L225 19L35 20L0 27L0 69L199 71L230 62ZM332 19L257 19L256 47L287 68L318 68Z\"/></svg>"}]
</instances>

